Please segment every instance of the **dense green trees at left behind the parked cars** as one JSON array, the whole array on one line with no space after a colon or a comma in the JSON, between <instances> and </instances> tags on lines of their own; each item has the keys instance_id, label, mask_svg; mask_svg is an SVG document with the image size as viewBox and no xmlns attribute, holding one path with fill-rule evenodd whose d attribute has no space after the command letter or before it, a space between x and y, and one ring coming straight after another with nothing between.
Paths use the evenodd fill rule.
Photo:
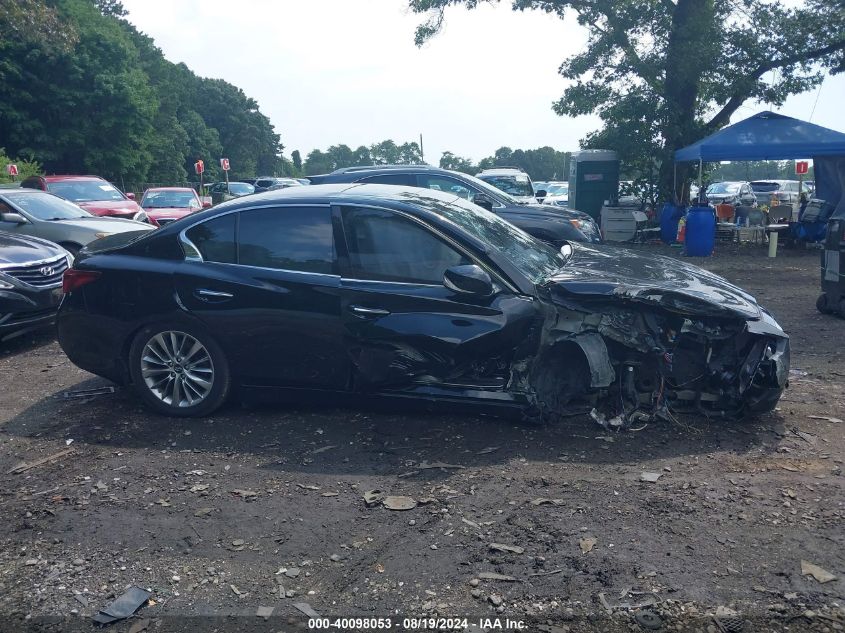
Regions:
<instances>
[{"instance_id":1,"label":"dense green trees at left behind the parked cars","mask_svg":"<svg viewBox=\"0 0 845 633\"><path fill-rule=\"evenodd\" d=\"M19 12L7 4L0 3L0 139L10 153L49 173L132 184L184 182L198 159L206 181L216 179L224 156L233 179L291 171L253 99L168 62L122 19L119 0L19 0L44 23L17 38L7 34L23 28ZM51 29L69 34L66 46L44 35Z\"/></svg>"}]
</instances>

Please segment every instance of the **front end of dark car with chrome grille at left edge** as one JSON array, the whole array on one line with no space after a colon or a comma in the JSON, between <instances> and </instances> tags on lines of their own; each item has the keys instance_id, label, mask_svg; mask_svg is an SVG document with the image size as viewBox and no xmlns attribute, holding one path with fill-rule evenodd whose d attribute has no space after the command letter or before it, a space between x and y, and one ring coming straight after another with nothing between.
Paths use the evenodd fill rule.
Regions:
<instances>
[{"instance_id":1,"label":"front end of dark car with chrome grille at left edge","mask_svg":"<svg viewBox=\"0 0 845 633\"><path fill-rule=\"evenodd\" d=\"M0 287L0 340L53 323L67 265L67 252L52 242L0 232L0 281L12 286ZM48 268L49 277L42 273Z\"/></svg>"}]
</instances>

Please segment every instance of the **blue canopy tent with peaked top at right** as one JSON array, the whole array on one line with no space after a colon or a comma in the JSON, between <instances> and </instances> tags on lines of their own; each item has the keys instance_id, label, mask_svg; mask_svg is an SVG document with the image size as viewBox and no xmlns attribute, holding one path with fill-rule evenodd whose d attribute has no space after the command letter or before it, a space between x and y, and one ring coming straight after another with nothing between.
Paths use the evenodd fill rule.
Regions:
<instances>
[{"instance_id":1,"label":"blue canopy tent with peaked top at right","mask_svg":"<svg viewBox=\"0 0 845 633\"><path fill-rule=\"evenodd\" d=\"M812 158L816 196L845 212L845 134L760 112L675 152L675 162ZM840 209L841 207L841 209ZM837 213L838 214L838 213Z\"/></svg>"}]
</instances>

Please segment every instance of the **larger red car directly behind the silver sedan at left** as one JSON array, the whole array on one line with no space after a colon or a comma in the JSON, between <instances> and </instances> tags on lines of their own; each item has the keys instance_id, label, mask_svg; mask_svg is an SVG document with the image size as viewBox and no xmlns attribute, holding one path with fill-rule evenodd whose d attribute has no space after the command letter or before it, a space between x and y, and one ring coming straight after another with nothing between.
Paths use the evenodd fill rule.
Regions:
<instances>
[{"instance_id":1,"label":"larger red car directly behind the silver sedan at left","mask_svg":"<svg viewBox=\"0 0 845 633\"><path fill-rule=\"evenodd\" d=\"M134 194L124 194L99 176L30 176L21 182L21 187L49 191L93 215L147 221Z\"/></svg>"}]
</instances>

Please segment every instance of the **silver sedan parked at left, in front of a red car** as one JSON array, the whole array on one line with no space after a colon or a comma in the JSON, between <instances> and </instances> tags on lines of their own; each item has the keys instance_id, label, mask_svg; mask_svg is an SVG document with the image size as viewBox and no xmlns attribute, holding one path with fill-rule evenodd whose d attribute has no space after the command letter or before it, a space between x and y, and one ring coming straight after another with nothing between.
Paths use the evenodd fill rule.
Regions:
<instances>
[{"instance_id":1,"label":"silver sedan parked at left, in front of a red car","mask_svg":"<svg viewBox=\"0 0 845 633\"><path fill-rule=\"evenodd\" d=\"M74 256L101 237L153 228L135 220L91 215L72 202L37 189L0 190L0 231L50 240Z\"/></svg>"}]
</instances>

